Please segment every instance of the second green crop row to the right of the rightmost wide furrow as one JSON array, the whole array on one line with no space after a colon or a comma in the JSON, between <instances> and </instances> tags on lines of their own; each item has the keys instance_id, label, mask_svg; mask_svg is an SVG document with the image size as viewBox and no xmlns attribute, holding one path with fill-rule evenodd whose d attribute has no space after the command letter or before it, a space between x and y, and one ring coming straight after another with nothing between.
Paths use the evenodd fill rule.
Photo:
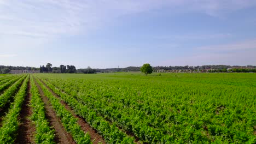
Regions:
<instances>
[{"instance_id":1,"label":"second green crop row to the right of the rightmost wide furrow","mask_svg":"<svg viewBox=\"0 0 256 144\"><path fill-rule=\"evenodd\" d=\"M58 86L55 86L58 87ZM74 88L74 87L72 87ZM67 89L66 89L67 90ZM66 91L68 94L71 94L70 91ZM91 98L91 97L80 97L81 95L73 94L72 95L79 103L87 105L90 110L95 110L98 116L104 117L108 119L110 122L115 122L117 125L126 130L131 131L134 135L136 135L139 140L154 143L154 142L162 142L168 143L171 141L171 137L167 134L162 134L159 130L155 130L150 127L147 123L143 122L143 114L140 117L136 117L136 115L141 114L140 111L135 111L134 109L127 109L126 107L121 107L121 110L118 109L118 104L121 104L119 101L114 105L107 105L109 99L101 97L101 98ZM72 97L71 96L71 97ZM105 100L105 101L103 101ZM133 115L134 114L134 115ZM151 119L148 119L150 121ZM165 123L162 123L165 124ZM165 129L163 129L165 130Z\"/></svg>"}]
</instances>

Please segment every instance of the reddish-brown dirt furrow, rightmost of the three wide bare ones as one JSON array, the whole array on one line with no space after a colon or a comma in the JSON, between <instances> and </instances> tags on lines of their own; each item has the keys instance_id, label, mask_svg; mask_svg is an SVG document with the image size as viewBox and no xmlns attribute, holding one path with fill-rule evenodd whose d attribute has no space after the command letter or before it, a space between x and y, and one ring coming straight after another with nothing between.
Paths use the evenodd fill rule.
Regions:
<instances>
[{"instance_id":1,"label":"reddish-brown dirt furrow, rightmost of the three wide bare ones","mask_svg":"<svg viewBox=\"0 0 256 144\"><path fill-rule=\"evenodd\" d=\"M40 79L39 79L40 80ZM45 85L45 83L40 80L43 85L49 89L49 91L56 97L56 98L60 98L59 95L57 95L56 93L54 93L48 86ZM78 124L80 125L80 127L82 128L83 131L85 131L85 133L89 133L90 134L90 137L91 137L91 141L93 143L106 143L104 141L104 139L102 138L101 135L99 135L97 133L97 130L93 129L90 127L90 125L88 123L86 123L86 121L84 120L84 118L80 117L80 116L77 116L74 112L74 110L67 105L67 103L65 103L65 101L61 100L61 104L65 106L65 108L70 111L72 113L72 115L75 117L75 118L78 118Z\"/></svg>"}]
</instances>

